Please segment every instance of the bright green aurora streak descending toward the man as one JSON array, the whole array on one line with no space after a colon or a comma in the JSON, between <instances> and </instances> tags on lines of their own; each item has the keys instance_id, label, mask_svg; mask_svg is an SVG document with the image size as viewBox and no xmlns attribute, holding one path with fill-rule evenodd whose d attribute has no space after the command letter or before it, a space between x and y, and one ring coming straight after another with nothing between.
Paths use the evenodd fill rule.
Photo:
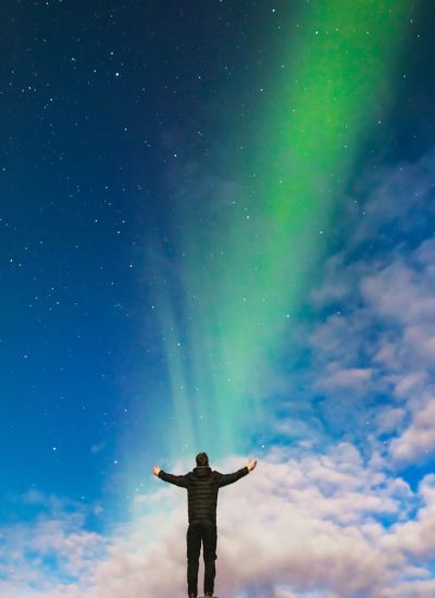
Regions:
<instances>
[{"instance_id":1,"label":"bright green aurora streak descending toward the man","mask_svg":"<svg viewBox=\"0 0 435 598\"><path fill-rule=\"evenodd\" d=\"M238 183L198 197L200 208L185 198L177 278L157 296L174 459L244 451L266 433L293 314L363 142L388 107L409 8L409 0L320 0L299 22L289 15L291 47L271 65Z\"/></svg>"}]
</instances>

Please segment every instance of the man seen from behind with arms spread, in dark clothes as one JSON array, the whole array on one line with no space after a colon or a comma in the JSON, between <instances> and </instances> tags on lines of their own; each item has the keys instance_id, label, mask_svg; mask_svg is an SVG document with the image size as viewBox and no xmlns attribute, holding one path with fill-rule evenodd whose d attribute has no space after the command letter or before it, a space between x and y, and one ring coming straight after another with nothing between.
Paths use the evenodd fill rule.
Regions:
<instances>
[{"instance_id":1,"label":"man seen from behind with arms spread, in dark clothes","mask_svg":"<svg viewBox=\"0 0 435 598\"><path fill-rule=\"evenodd\" d=\"M247 475L257 465L257 461L248 461L248 465L235 473L222 474L212 471L206 452L197 454L197 466L186 475L173 475L154 465L152 473L182 488L187 488L189 526L187 530L187 591L189 598L198 594L199 553L204 560L204 594L213 596L214 577L216 575L215 559L217 527L216 504L219 488L233 484Z\"/></svg>"}]
</instances>

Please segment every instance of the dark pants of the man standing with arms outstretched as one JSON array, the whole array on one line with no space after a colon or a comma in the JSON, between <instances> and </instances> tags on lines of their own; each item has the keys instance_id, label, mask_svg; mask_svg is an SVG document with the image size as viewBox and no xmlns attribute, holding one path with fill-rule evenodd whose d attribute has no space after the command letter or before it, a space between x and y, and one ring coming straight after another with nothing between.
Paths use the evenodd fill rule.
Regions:
<instances>
[{"instance_id":1,"label":"dark pants of the man standing with arms outstretched","mask_svg":"<svg viewBox=\"0 0 435 598\"><path fill-rule=\"evenodd\" d=\"M204 594L213 594L216 568L214 564L217 543L216 524L209 521L189 523L187 530L187 591L198 594L199 553L201 551L204 561Z\"/></svg>"}]
</instances>

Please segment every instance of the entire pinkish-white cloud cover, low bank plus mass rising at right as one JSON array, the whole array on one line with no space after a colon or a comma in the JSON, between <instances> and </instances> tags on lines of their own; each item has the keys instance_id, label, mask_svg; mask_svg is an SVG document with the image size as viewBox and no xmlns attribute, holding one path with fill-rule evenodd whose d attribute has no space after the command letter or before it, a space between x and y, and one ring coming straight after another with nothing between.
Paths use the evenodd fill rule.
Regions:
<instances>
[{"instance_id":1,"label":"entire pinkish-white cloud cover, low bank plus mass rising at right","mask_svg":"<svg viewBox=\"0 0 435 598\"><path fill-rule=\"evenodd\" d=\"M249 588L259 597L434 591L433 164L431 151L383 169L377 180L363 173L358 199L349 192L344 201L341 242L293 335L289 359L300 366L283 363L274 375L276 409L259 466L220 498L221 593L234 584L240 597ZM215 466L231 471L241 460ZM167 590L182 584L185 499L147 472L129 521L109 532L95 523L98 504L29 489L16 507L37 516L2 528L4 591L94 597L104 587L111 598L124 584L132 596L151 595L162 583L160 568L150 575L147 564L156 551L171 562ZM249 566L236 570L232 558L246 553L247 536Z\"/></svg>"}]
</instances>

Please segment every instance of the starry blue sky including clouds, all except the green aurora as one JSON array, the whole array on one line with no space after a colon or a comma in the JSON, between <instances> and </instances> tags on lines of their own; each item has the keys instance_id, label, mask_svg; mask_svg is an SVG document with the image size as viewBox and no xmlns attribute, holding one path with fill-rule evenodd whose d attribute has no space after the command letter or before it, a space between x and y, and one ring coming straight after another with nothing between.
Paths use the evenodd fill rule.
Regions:
<instances>
[{"instance_id":1,"label":"starry blue sky including clouds, all except the green aurora","mask_svg":"<svg viewBox=\"0 0 435 598\"><path fill-rule=\"evenodd\" d=\"M196 160L213 198L241 185L213 170L214 115L232 98L231 126L240 110L254 126L254 82L286 47L274 27L297 11L61 4L10 2L1 46L0 594L163 596L185 584L186 496L150 468L185 473L194 456L163 453L156 426L171 412L147 263L186 190L174 173ZM220 495L217 595L435 594L435 79L419 7L265 376L262 426L249 454L212 459L259 461Z\"/></svg>"}]
</instances>

